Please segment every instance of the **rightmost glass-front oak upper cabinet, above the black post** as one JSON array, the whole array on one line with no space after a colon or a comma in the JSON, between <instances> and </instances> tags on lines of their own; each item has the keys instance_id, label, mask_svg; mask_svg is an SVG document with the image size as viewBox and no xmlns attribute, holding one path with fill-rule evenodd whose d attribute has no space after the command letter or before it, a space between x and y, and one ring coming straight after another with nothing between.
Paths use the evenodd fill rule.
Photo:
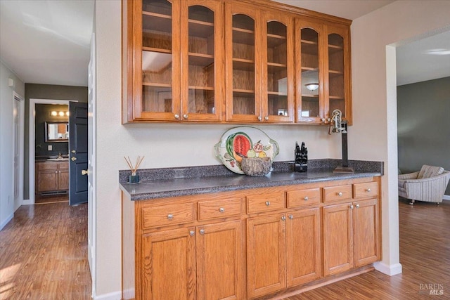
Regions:
<instances>
[{"instance_id":1,"label":"rightmost glass-front oak upper cabinet, above the black post","mask_svg":"<svg viewBox=\"0 0 450 300\"><path fill-rule=\"evenodd\" d=\"M350 86L349 33L347 27L327 27L328 93L326 94L327 118L333 110L340 110L342 118L352 121Z\"/></svg>"}]
</instances>

